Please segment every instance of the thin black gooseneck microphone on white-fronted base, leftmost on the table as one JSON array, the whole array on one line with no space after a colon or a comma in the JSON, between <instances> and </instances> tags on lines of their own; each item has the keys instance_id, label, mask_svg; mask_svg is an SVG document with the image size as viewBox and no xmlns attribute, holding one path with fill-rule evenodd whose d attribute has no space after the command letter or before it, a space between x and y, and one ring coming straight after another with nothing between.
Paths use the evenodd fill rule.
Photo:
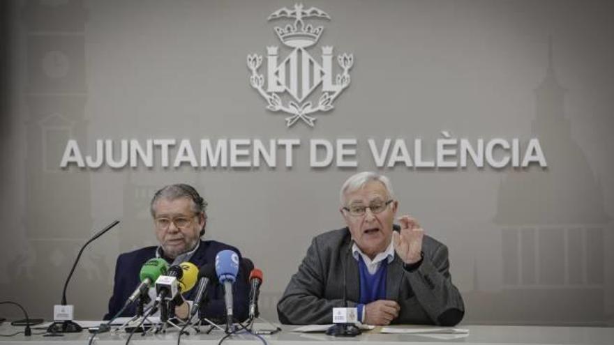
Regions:
<instances>
[{"instance_id":1,"label":"thin black gooseneck microphone on white-fronted base, leftmost on the table","mask_svg":"<svg viewBox=\"0 0 614 345\"><path fill-rule=\"evenodd\" d=\"M75 333L82 332L83 328L73 321L73 306L67 305L66 302L66 289L68 288L68 282L70 282L70 278L73 277L73 273L75 273L75 268L77 268L77 263L79 259L81 259L81 254L83 254L83 250L85 247L92 243L96 238L103 236L107 231L115 227L119 224L119 220L114 220L111 224L107 225L104 229L98 231L96 235L92 236L87 242L81 247L79 250L79 254L77 254L77 259L75 259L75 263L73 263L73 267L70 268L70 273L68 273L68 277L66 278L66 282L64 282L64 288L62 290L62 301L61 305L54 305L54 323L49 325L47 328L47 332L50 333ZM60 321L63 320L63 321Z\"/></svg>"}]
</instances>

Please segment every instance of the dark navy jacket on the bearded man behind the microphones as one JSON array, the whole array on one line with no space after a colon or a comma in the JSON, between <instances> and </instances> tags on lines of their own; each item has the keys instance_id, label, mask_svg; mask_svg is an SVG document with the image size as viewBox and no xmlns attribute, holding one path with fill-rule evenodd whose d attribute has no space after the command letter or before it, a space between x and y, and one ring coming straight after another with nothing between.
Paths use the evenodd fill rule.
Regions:
<instances>
[{"instance_id":1,"label":"dark navy jacket on the bearded man behind the microphones","mask_svg":"<svg viewBox=\"0 0 614 345\"><path fill-rule=\"evenodd\" d=\"M241 252L237 248L230 245L225 245L214 240L200 241L198 250L190 259L198 268L205 263L216 263L216 255L220 250L233 250L241 257ZM140 250L128 252L119 255L117 264L115 265L115 284L113 287L113 296L109 300L109 312L104 319L111 319L119 309L123 307L123 303L128 300L128 296L140 284L139 273L145 261L156 257L156 247L145 247ZM248 284L249 272L244 272L241 266L237 281L232 286L232 297L234 317L239 321L244 321L248 317L248 296L250 287ZM186 300L193 300L196 289L191 289L184 293ZM200 315L207 319L216 319L226 315L224 302L224 287L221 284L209 286L207 289L209 303L200 309ZM130 305L121 316L133 316L136 314L136 303Z\"/></svg>"}]
</instances>

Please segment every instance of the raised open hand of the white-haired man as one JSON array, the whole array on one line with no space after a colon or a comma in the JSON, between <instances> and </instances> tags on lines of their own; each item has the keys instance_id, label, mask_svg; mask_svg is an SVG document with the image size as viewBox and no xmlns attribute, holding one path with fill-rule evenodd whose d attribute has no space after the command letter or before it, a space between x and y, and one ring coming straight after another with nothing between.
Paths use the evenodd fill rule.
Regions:
<instances>
[{"instance_id":1,"label":"raised open hand of the white-haired man","mask_svg":"<svg viewBox=\"0 0 614 345\"><path fill-rule=\"evenodd\" d=\"M400 233L392 231L394 250L407 265L417 263L421 259L424 229L420 227L417 220L408 215L403 215L398 218L398 221L400 222Z\"/></svg>"}]
</instances>

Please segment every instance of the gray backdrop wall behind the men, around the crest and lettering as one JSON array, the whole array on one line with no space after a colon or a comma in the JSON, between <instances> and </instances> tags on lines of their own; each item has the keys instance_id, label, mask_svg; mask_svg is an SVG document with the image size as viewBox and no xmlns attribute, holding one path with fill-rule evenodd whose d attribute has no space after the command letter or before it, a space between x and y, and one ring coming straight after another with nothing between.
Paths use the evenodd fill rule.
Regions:
<instances>
[{"instance_id":1,"label":"gray backdrop wall behind the men, around the crest and lettering","mask_svg":"<svg viewBox=\"0 0 614 345\"><path fill-rule=\"evenodd\" d=\"M247 54L294 1L10 1L3 5L0 296L50 318L105 312L121 252L153 245L149 200L186 182L206 238L241 248L276 301L310 239L343 225L338 188L377 169L367 139L541 141L548 168L377 169L401 214L447 243L466 323L613 323L614 6L611 1L306 1L352 82L314 128L287 128L250 87ZM320 48L313 51L319 56ZM301 139L292 168L59 169L69 138ZM356 138L359 166L312 168L310 139ZM433 147L427 148L433 154ZM282 152L282 151L278 151ZM280 153L281 155L281 153ZM17 314L2 310L0 314Z\"/></svg>"}]
</instances>

